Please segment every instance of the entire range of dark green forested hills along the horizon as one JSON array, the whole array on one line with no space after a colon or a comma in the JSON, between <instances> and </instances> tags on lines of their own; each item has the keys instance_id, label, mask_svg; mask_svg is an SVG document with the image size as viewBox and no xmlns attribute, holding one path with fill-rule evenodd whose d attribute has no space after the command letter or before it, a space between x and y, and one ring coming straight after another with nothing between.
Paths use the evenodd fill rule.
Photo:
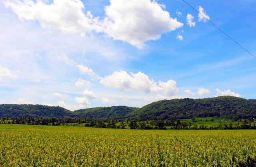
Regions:
<instances>
[{"instance_id":1,"label":"entire range of dark green forested hills along the horizon","mask_svg":"<svg viewBox=\"0 0 256 167\"><path fill-rule=\"evenodd\" d=\"M255 101L233 96L172 99L156 101L142 108L95 107L74 112L62 107L46 105L2 104L0 105L0 117L135 119L137 121L218 117L238 120L256 117Z\"/></svg>"}]
</instances>

